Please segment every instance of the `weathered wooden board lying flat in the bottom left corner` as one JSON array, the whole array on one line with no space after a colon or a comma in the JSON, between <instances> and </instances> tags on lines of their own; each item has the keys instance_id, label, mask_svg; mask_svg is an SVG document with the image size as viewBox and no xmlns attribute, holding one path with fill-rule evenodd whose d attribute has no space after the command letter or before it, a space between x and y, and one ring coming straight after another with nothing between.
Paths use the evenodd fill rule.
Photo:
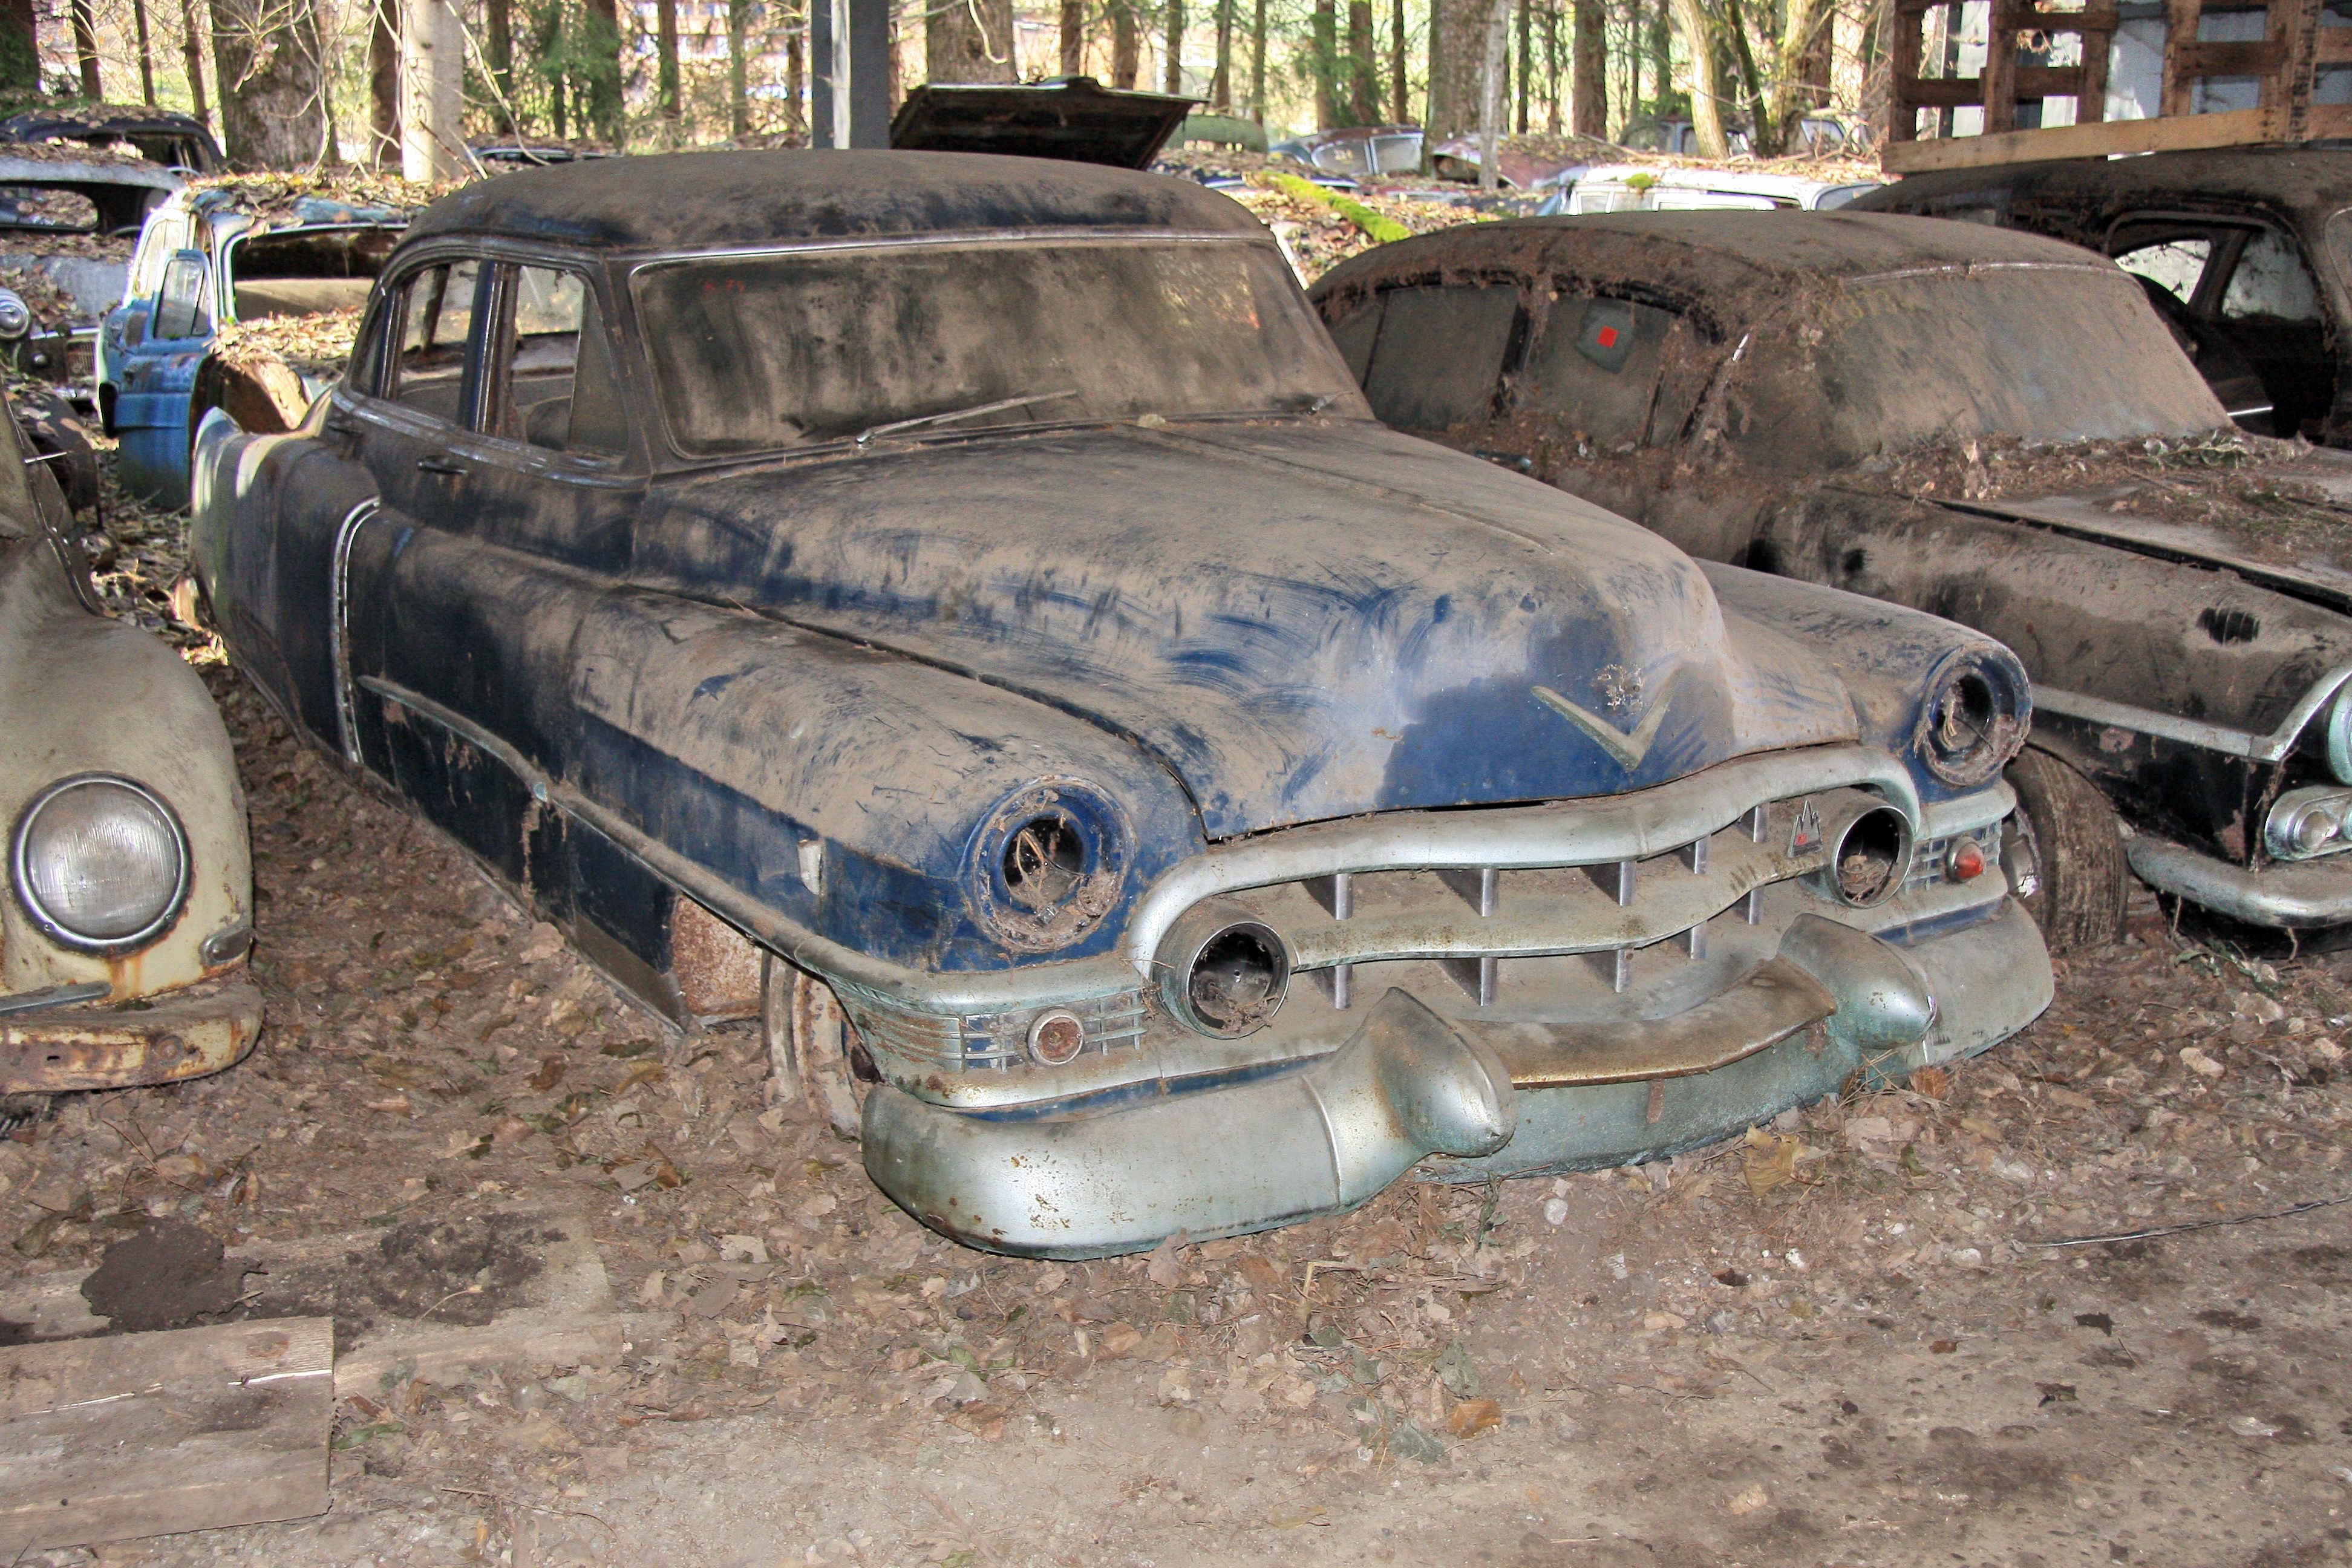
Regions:
<instances>
[{"instance_id":1,"label":"weathered wooden board lying flat in the bottom left corner","mask_svg":"<svg viewBox=\"0 0 2352 1568\"><path fill-rule=\"evenodd\" d=\"M327 1512L334 1319L0 1349L0 1561Z\"/></svg>"}]
</instances>

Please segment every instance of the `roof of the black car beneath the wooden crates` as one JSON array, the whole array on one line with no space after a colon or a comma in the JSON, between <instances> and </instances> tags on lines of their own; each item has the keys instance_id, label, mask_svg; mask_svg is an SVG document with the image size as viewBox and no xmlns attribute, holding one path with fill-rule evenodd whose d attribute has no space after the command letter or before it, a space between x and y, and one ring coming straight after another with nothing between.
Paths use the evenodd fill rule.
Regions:
<instances>
[{"instance_id":1,"label":"roof of the black car beneath the wooden crates","mask_svg":"<svg viewBox=\"0 0 2352 1568\"><path fill-rule=\"evenodd\" d=\"M2284 209L2333 212L2352 202L2352 148L2211 148L2147 153L2145 158L2058 158L1976 169L1907 174L1886 190L1860 197L1860 207L1900 212L1919 200L1973 190L2039 190L2051 195L2145 195L2249 197Z\"/></svg>"}]
</instances>

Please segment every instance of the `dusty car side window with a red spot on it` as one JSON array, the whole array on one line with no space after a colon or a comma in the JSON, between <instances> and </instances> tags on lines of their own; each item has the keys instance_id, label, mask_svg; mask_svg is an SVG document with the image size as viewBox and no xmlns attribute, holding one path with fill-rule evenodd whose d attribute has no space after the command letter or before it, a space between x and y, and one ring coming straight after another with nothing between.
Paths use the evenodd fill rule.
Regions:
<instances>
[{"instance_id":1,"label":"dusty car side window with a red spot on it","mask_svg":"<svg viewBox=\"0 0 2352 1568\"><path fill-rule=\"evenodd\" d=\"M1705 393L1689 320L1630 299L1559 294L1519 374L1517 407L1559 418L1597 447L1670 442Z\"/></svg>"}]
</instances>

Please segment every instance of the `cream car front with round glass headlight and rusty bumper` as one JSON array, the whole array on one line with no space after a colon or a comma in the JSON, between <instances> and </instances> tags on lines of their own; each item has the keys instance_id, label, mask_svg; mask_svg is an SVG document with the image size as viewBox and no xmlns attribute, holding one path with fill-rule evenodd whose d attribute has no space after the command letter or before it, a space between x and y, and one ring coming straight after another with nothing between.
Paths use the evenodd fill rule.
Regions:
<instances>
[{"instance_id":1,"label":"cream car front with round glass headlight and rusty bumper","mask_svg":"<svg viewBox=\"0 0 2352 1568\"><path fill-rule=\"evenodd\" d=\"M0 421L0 1093L167 1084L242 1058L245 795L179 654L103 614L64 498Z\"/></svg>"}]
</instances>

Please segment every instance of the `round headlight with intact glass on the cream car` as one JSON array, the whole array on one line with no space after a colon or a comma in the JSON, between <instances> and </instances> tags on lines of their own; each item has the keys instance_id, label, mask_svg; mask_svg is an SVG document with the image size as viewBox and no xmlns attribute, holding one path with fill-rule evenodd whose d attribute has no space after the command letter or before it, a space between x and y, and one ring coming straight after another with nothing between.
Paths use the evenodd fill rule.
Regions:
<instances>
[{"instance_id":1,"label":"round headlight with intact glass on the cream car","mask_svg":"<svg viewBox=\"0 0 2352 1568\"><path fill-rule=\"evenodd\" d=\"M16 818L9 872L26 914L56 943L132 952L188 903L188 835L129 778L66 778Z\"/></svg>"}]
</instances>

